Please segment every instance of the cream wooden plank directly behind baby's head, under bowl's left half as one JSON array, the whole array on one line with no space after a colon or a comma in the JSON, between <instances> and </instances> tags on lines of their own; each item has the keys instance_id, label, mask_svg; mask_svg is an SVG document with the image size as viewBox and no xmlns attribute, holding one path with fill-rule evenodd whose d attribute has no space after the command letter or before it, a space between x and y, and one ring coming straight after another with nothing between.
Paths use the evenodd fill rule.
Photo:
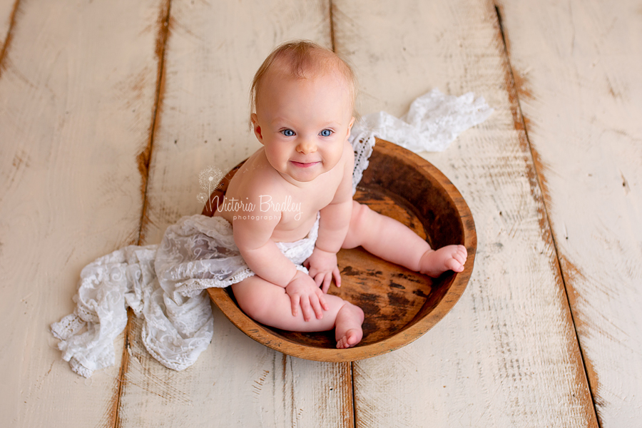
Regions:
<instances>
[{"instance_id":1,"label":"cream wooden plank directly behind baby's head, under bowl's left half","mask_svg":"<svg viewBox=\"0 0 642 428\"><path fill-rule=\"evenodd\" d=\"M248 129L253 73L281 41L330 44L326 1L173 1L143 234L158 243L200 213L198 173L228 170L258 148ZM215 310L215 334L195 365L174 372L130 336L121 427L352 427L349 364L285 357Z\"/></svg>"}]
</instances>

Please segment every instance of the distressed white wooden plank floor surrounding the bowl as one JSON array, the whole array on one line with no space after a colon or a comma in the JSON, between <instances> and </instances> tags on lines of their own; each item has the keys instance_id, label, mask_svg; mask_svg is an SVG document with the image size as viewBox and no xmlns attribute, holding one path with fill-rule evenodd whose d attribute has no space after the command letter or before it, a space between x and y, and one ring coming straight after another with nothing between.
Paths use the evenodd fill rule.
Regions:
<instances>
[{"instance_id":1,"label":"distressed white wooden plank floor surrounding the bowl","mask_svg":"<svg viewBox=\"0 0 642 428\"><path fill-rule=\"evenodd\" d=\"M251 76L313 39L360 111L431 88L495 113L424 153L472 209L462 300L407 347L286 357L215 310L183 372L139 342L91 379L56 350L81 268L200 212L257 148ZM3 427L640 427L642 4L634 0L0 0Z\"/></svg>"}]
</instances>

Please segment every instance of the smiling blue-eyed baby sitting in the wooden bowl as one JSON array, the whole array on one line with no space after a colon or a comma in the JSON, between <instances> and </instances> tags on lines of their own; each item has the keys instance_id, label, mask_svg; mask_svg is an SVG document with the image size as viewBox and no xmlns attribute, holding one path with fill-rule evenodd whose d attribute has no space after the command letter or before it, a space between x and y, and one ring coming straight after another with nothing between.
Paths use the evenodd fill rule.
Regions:
<instances>
[{"instance_id":1,"label":"smiling blue-eyed baby sitting in the wooden bowl","mask_svg":"<svg viewBox=\"0 0 642 428\"><path fill-rule=\"evenodd\" d=\"M250 121L263 145L234 175L220 215L233 226L241 255L255 272L232 286L250 317L282 330L335 329L337 348L362 339L360 307L327 294L341 286L337 252L362 246L411 270L437 277L462 272L463 245L432 250L402 223L352 200L355 156L348 141L355 123L356 83L336 54L307 41L284 44L257 71ZM318 223L317 223L318 222ZM303 263L277 243L318 238Z\"/></svg>"}]
</instances>

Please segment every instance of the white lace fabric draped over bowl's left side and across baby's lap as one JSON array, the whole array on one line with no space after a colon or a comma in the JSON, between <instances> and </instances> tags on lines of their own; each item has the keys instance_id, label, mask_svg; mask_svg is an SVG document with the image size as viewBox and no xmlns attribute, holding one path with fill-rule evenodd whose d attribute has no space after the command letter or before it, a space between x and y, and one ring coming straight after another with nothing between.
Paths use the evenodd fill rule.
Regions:
<instances>
[{"instance_id":1,"label":"white lace fabric draped over bowl's left side and across baby's lap","mask_svg":"<svg viewBox=\"0 0 642 428\"><path fill-rule=\"evenodd\" d=\"M315 248L319 216L306 238L277 243L302 266ZM208 347L214 332L206 288L228 287L255 275L221 217L186 216L165 231L161 245L128 247L98 258L81 272L77 307L51 326L63 360L89 377L113 365L113 341L127 324L127 308L143 317L143 344L165 367L183 370Z\"/></svg>"}]
</instances>

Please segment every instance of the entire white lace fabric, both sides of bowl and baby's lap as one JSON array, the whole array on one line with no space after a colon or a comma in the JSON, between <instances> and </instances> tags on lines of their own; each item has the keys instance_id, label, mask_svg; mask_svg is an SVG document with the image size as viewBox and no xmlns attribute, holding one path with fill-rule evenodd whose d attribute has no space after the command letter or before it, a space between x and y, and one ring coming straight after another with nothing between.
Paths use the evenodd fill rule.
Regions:
<instances>
[{"instance_id":1,"label":"entire white lace fabric, both sides of bowl and baby's lap","mask_svg":"<svg viewBox=\"0 0 642 428\"><path fill-rule=\"evenodd\" d=\"M374 136L413 151L441 151L458 133L484 121L492 112L472 93L444 96L437 90L417 98L402 119L387 113L365 116L352 128L355 149L353 193L368 166ZM308 236L277 243L301 264L312 254L319 218ZM233 239L232 226L220 217L185 216L165 231L160 245L129 245L94 260L81 271L76 309L51 325L63 360L73 372L90 377L115 361L114 340L127 324L127 308L143 317L142 339L156 360L183 370L212 340L209 287L228 287L255 275Z\"/></svg>"}]
</instances>

